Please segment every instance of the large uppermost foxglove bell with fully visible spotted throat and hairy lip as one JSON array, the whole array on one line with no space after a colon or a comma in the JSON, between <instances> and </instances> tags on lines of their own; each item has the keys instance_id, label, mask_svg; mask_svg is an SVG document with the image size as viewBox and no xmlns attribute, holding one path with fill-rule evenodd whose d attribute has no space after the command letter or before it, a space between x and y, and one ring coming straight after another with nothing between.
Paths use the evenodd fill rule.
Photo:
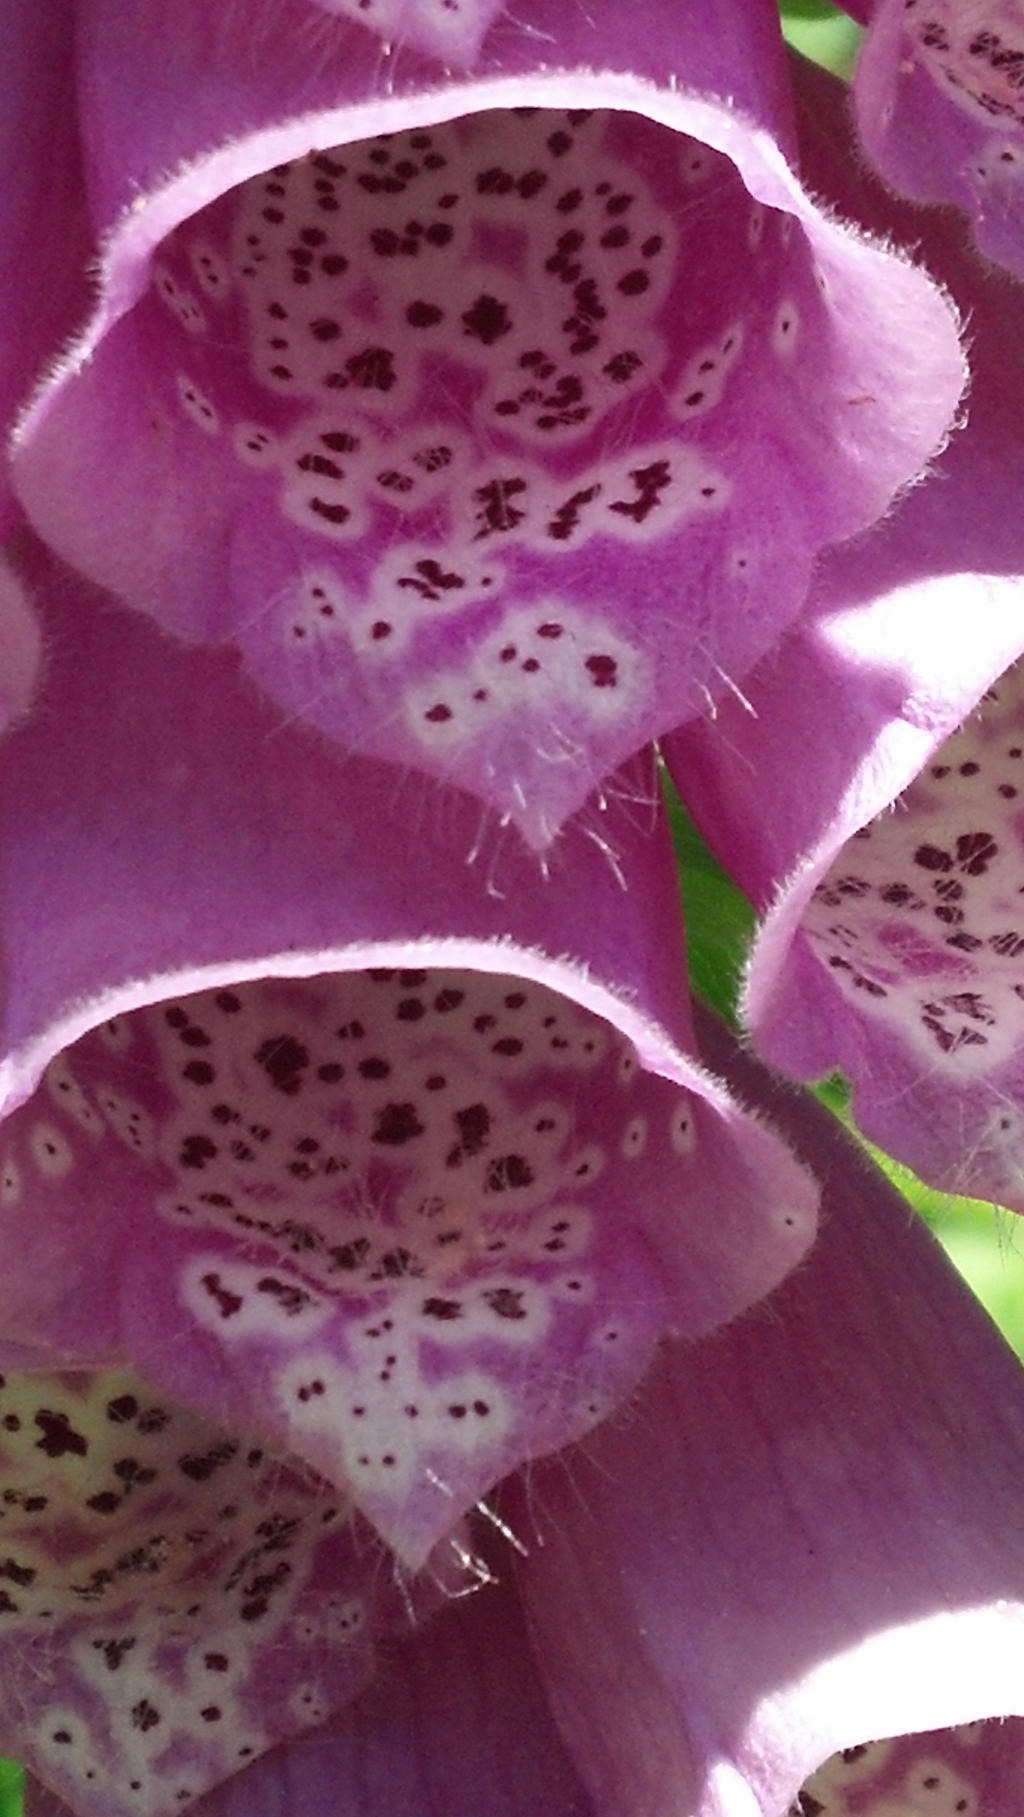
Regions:
<instances>
[{"instance_id":1,"label":"large uppermost foxglove bell with fully visible spotted throat and hairy lip","mask_svg":"<svg viewBox=\"0 0 1024 1817\"><path fill-rule=\"evenodd\" d=\"M22 418L29 516L537 849L948 431L946 303L786 164L772 0L76 27L103 282Z\"/></svg>"}]
</instances>

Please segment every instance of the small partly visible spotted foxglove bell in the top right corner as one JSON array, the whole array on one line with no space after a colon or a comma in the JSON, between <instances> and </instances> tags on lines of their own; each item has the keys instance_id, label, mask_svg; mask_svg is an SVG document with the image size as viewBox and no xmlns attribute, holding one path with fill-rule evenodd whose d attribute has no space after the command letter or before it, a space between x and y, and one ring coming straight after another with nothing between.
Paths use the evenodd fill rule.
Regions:
<instances>
[{"instance_id":1,"label":"small partly visible spotted foxglove bell in the top right corner","mask_svg":"<svg viewBox=\"0 0 1024 1817\"><path fill-rule=\"evenodd\" d=\"M979 249L1024 276L1024 15L1019 0L844 0L868 36L853 102L886 182L955 202Z\"/></svg>"}]
</instances>

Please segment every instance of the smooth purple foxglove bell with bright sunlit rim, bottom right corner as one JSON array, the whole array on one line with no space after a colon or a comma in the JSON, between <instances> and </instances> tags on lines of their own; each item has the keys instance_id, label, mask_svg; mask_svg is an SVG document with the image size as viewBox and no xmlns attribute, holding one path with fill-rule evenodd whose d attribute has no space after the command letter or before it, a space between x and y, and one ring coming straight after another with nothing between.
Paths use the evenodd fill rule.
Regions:
<instances>
[{"instance_id":1,"label":"smooth purple foxglove bell with bright sunlit rim, bottom right corner","mask_svg":"<svg viewBox=\"0 0 1024 1817\"><path fill-rule=\"evenodd\" d=\"M930 1732L1024 1715L1019 1363L833 1119L721 1034L708 1056L828 1216L764 1308L666 1348L643 1410L532 1472L508 1519L552 1706L608 1813L777 1813L837 1750L913 1735L870 1755L906 1802L832 1797L848 1753L795 1810L1011 1817L1024 1724Z\"/></svg>"}]
</instances>

